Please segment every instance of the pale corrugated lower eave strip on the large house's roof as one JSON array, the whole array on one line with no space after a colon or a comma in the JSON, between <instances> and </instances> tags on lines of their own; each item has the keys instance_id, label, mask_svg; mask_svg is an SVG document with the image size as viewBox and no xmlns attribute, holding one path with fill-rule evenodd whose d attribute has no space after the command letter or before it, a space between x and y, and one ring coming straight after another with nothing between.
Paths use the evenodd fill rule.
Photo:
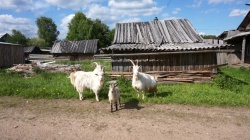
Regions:
<instances>
[{"instance_id":1,"label":"pale corrugated lower eave strip on the large house's roof","mask_svg":"<svg viewBox=\"0 0 250 140\"><path fill-rule=\"evenodd\" d=\"M209 50L209 49L222 49L230 44L225 45L214 45L206 43L181 43L181 44L162 44L161 46L156 46L154 44L113 44L107 48L102 48L106 51L189 51L189 50Z\"/></svg>"}]
</instances>

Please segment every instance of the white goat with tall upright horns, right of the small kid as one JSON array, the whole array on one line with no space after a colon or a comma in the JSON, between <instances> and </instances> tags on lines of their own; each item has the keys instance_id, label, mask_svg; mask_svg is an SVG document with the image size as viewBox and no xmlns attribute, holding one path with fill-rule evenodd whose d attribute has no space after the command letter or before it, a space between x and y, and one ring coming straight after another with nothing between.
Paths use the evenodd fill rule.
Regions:
<instances>
[{"instance_id":1,"label":"white goat with tall upright horns, right of the small kid","mask_svg":"<svg viewBox=\"0 0 250 140\"><path fill-rule=\"evenodd\" d=\"M153 76L139 72L140 66L134 64L132 60L129 60L133 64L133 77L132 77L132 86L138 92L142 92L142 99L144 99L144 93L150 92L154 93L154 96L157 92L157 83Z\"/></svg>"}]
</instances>

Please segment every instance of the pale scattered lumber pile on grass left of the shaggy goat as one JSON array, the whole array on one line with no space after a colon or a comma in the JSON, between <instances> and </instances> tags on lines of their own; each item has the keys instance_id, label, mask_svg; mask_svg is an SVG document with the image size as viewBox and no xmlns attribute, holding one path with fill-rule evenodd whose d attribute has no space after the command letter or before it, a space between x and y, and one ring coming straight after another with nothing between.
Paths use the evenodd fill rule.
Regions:
<instances>
[{"instance_id":1,"label":"pale scattered lumber pile on grass left of the shaggy goat","mask_svg":"<svg viewBox=\"0 0 250 140\"><path fill-rule=\"evenodd\" d=\"M51 63L33 63L33 64L17 64L11 68L9 71L15 71L26 74L33 74L34 69L40 69L49 72L73 72L81 70L80 65L61 65L61 64L51 64Z\"/></svg>"}]
</instances>

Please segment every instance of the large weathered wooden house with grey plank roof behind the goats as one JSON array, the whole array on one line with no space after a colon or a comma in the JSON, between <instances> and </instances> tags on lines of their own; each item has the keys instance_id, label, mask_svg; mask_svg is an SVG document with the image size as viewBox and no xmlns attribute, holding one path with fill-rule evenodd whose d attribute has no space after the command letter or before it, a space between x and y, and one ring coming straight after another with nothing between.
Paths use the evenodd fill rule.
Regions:
<instances>
[{"instance_id":1,"label":"large weathered wooden house with grey plank roof behind the goats","mask_svg":"<svg viewBox=\"0 0 250 140\"><path fill-rule=\"evenodd\" d=\"M208 44L187 19L117 23L113 44L101 50L112 57L114 72L131 72L128 59L138 60L142 72L210 70L228 53L229 44ZM135 61L136 62L136 61ZM210 68L210 69L209 69Z\"/></svg>"}]
</instances>

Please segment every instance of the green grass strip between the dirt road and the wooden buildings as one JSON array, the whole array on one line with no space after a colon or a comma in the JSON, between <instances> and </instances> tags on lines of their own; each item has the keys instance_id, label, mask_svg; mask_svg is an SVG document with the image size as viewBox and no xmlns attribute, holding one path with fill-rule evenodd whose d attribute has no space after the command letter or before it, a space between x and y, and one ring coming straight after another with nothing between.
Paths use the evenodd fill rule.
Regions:
<instances>
[{"instance_id":1,"label":"green grass strip between the dirt road and the wooden buildings","mask_svg":"<svg viewBox=\"0 0 250 140\"><path fill-rule=\"evenodd\" d=\"M93 61L81 62L84 71L92 71ZM111 71L109 62L99 61L105 65L105 71ZM63 62L64 64L79 64L79 62ZM69 74L48 73L36 71L31 78L21 74L0 70L0 96L21 96L24 98L75 98L78 93L67 78ZM108 102L107 81L99 96L101 101ZM117 79L121 89L122 102L141 102L158 104L189 104L198 106L246 106L250 107L250 70L246 68L219 68L219 74L209 83L204 84L169 84L158 85L156 97L147 93L145 100L137 98L136 91L131 86L131 80L124 77ZM95 100L90 90L84 93L86 100Z\"/></svg>"}]
</instances>

